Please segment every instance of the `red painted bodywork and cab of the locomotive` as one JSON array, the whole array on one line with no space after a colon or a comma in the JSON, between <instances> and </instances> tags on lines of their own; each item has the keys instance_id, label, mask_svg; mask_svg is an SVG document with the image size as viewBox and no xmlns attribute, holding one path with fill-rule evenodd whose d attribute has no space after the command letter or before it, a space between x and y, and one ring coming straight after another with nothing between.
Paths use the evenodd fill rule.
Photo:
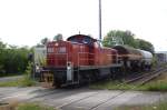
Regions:
<instances>
[{"instance_id":1,"label":"red painted bodywork and cab of the locomotive","mask_svg":"<svg viewBox=\"0 0 167 110\"><path fill-rule=\"evenodd\" d=\"M52 68L66 68L71 62L73 68L80 66L109 66L117 62L117 50L102 48L97 40L76 34L70 37L71 41L51 41L47 44L47 66ZM84 43L90 39L91 44Z\"/></svg>"}]
</instances>

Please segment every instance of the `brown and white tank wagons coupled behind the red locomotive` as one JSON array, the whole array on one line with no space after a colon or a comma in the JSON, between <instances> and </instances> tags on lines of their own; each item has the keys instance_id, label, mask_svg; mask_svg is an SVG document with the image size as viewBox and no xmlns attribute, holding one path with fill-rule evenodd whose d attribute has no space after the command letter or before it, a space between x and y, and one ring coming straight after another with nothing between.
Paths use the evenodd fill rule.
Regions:
<instances>
[{"instance_id":1,"label":"brown and white tank wagons coupled behind the red locomotive","mask_svg":"<svg viewBox=\"0 0 167 110\"><path fill-rule=\"evenodd\" d=\"M116 46L114 49L118 51L126 71L150 69L153 63L153 54L150 52L128 46Z\"/></svg>"}]
</instances>

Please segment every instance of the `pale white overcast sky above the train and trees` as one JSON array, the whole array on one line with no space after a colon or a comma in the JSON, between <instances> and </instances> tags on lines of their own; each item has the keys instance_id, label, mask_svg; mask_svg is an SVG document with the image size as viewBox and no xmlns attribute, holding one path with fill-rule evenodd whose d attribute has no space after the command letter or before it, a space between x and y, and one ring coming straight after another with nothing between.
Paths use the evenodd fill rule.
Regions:
<instances>
[{"instance_id":1,"label":"pale white overcast sky above the train and trees","mask_svg":"<svg viewBox=\"0 0 167 110\"><path fill-rule=\"evenodd\" d=\"M166 0L101 0L102 37L110 30L130 30L167 50ZM42 38L79 33L98 38L98 0L0 0L0 39L35 46Z\"/></svg>"}]
</instances>

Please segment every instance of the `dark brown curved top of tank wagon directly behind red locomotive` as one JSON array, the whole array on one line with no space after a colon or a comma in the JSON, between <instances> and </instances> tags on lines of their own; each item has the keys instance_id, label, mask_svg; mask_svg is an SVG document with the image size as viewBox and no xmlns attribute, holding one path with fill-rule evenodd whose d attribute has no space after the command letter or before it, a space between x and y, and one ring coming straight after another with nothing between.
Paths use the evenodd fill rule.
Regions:
<instances>
[{"instance_id":1,"label":"dark brown curved top of tank wagon directly behind red locomotive","mask_svg":"<svg viewBox=\"0 0 167 110\"><path fill-rule=\"evenodd\" d=\"M116 46L114 49L124 54L141 54L139 50L128 46Z\"/></svg>"}]
</instances>

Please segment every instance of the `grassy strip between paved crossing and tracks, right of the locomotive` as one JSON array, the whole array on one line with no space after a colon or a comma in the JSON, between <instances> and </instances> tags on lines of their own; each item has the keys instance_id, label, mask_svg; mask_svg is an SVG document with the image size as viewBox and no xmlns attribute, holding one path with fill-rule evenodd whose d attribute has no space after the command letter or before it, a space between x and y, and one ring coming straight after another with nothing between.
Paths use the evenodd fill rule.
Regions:
<instances>
[{"instance_id":1,"label":"grassy strip between paved crossing and tracks, right of the locomotive","mask_svg":"<svg viewBox=\"0 0 167 110\"><path fill-rule=\"evenodd\" d=\"M108 90L167 91L167 72L144 86L128 84L120 81L102 81L91 84L90 88Z\"/></svg>"}]
</instances>

